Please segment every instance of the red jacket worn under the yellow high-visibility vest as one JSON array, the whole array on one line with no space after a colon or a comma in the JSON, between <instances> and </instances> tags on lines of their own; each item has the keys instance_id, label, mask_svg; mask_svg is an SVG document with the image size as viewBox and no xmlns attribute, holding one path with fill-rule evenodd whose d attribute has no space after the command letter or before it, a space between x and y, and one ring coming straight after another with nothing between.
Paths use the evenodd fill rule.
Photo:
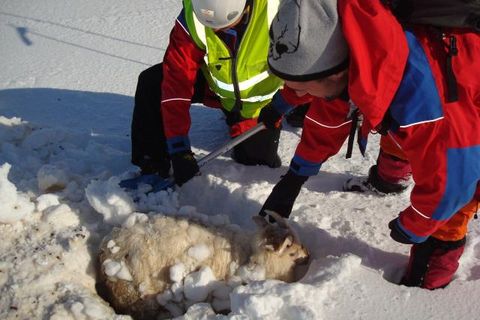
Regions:
<instances>
[{"instance_id":1,"label":"red jacket worn under the yellow high-visibility vest","mask_svg":"<svg viewBox=\"0 0 480 320\"><path fill-rule=\"evenodd\" d=\"M245 24L239 24L236 31L243 33ZM222 38L232 51L236 50L241 37L232 38L228 32L220 32ZM237 42L236 42L237 41ZM234 44L236 42L236 44ZM162 101L161 110L169 153L175 153L190 148L188 132L191 126L190 105L194 94L197 74L204 64L206 52L197 47L190 36L185 22L184 10L180 13L175 26L170 33L170 41L163 59ZM265 61L267 57L264 57ZM203 102L205 105L221 108L221 103L206 85ZM279 111L291 108L280 95L274 96L274 105ZM197 101L198 102L198 101ZM247 131L257 124L257 119L242 119L230 126L232 137Z\"/></svg>"}]
</instances>

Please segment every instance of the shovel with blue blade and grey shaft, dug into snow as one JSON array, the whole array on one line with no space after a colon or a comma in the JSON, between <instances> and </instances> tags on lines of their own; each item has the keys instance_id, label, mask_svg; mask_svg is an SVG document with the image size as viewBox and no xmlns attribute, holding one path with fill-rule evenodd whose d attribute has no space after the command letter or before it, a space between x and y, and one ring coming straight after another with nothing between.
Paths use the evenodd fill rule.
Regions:
<instances>
[{"instance_id":1,"label":"shovel with blue blade and grey shaft, dug into snow","mask_svg":"<svg viewBox=\"0 0 480 320\"><path fill-rule=\"evenodd\" d=\"M230 140L225 145L213 150L211 153L207 154L205 157L198 160L197 164L198 167L201 168L213 159L217 158L218 156L224 154L225 152L231 150L237 144L247 140L257 132L265 129L265 124L263 122L257 124L255 127L245 131L241 135L235 137L234 139ZM172 188L175 185L175 181L173 178L162 178L156 174L147 174L141 175L135 178L126 179L120 181L120 187L126 190L136 190L140 184L149 184L152 186L152 189L148 192L158 192L161 190L167 190L168 188Z\"/></svg>"}]
</instances>

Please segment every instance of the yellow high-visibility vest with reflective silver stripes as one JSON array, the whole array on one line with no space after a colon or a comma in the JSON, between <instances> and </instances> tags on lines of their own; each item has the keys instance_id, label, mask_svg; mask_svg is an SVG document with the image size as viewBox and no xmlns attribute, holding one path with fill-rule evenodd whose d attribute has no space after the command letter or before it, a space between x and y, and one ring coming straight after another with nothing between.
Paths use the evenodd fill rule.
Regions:
<instances>
[{"instance_id":1,"label":"yellow high-visibility vest with reflective silver stripes","mask_svg":"<svg viewBox=\"0 0 480 320\"><path fill-rule=\"evenodd\" d=\"M232 80L232 61L237 62L237 79L244 118L258 116L270 102L282 81L268 71L268 27L274 18L279 1L254 0L251 17L236 55L233 56L212 29L204 27L193 13L191 0L184 0L185 18L190 35L197 46L206 51L204 71L210 88L222 101L226 110L235 104L235 86Z\"/></svg>"}]
</instances>

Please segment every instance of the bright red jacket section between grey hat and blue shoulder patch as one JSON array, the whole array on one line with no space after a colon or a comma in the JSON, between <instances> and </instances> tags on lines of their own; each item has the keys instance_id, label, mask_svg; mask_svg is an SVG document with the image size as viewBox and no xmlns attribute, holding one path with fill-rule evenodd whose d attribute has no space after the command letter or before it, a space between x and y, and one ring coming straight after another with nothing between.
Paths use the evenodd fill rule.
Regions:
<instances>
[{"instance_id":1,"label":"bright red jacket section between grey hat and blue shoulder patch","mask_svg":"<svg viewBox=\"0 0 480 320\"><path fill-rule=\"evenodd\" d=\"M375 128L403 79L405 34L382 1L338 0L338 13L349 47L348 94Z\"/></svg>"}]
</instances>

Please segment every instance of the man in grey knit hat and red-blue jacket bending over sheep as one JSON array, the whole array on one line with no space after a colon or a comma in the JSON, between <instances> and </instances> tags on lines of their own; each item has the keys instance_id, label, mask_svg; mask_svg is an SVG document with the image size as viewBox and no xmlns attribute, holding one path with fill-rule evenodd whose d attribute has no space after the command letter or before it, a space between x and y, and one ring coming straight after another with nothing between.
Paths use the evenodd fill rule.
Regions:
<instances>
[{"instance_id":1,"label":"man in grey knit hat and red-blue jacket bending over sheep","mask_svg":"<svg viewBox=\"0 0 480 320\"><path fill-rule=\"evenodd\" d=\"M404 30L380 1L285 0L270 37L270 70L285 80L286 100L311 105L289 171L260 214L288 217L361 116L360 144L380 133L411 166L411 203L388 225L393 240L412 245L401 283L448 285L480 201L480 35Z\"/></svg>"}]
</instances>

